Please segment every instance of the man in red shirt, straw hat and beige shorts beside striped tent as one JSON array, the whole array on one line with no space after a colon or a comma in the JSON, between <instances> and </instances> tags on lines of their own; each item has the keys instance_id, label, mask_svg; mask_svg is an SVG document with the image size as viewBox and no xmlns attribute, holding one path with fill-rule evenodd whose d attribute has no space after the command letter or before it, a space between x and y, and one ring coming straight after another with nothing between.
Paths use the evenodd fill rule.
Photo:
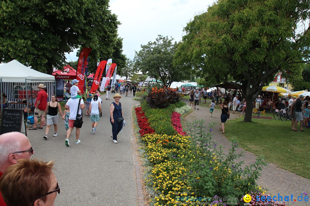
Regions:
<instances>
[{"instance_id":1,"label":"man in red shirt, straw hat and beige shorts beside striped tent","mask_svg":"<svg viewBox=\"0 0 310 206\"><path fill-rule=\"evenodd\" d=\"M38 96L35 103L35 109L34 109L34 124L32 128L29 128L29 130L37 129L38 124L38 117L41 117L41 124L39 129L43 129L43 123L45 122L45 116L44 112L46 110L47 105L47 93L45 92L45 86L43 84L39 84L38 86Z\"/></svg>"}]
</instances>

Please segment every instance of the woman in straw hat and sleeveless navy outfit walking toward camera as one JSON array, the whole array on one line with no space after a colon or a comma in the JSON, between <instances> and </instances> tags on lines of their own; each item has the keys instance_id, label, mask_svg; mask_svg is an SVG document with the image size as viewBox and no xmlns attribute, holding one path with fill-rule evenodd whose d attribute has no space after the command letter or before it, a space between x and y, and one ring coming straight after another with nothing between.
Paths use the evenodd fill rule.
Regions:
<instances>
[{"instance_id":1,"label":"woman in straw hat and sleeveless navy outfit walking toward camera","mask_svg":"<svg viewBox=\"0 0 310 206\"><path fill-rule=\"evenodd\" d=\"M122 121L117 122L117 118L123 117L122 104L119 102L121 98L122 96L116 93L113 96L114 102L112 102L110 105L110 122L112 125L112 134L113 134L111 137L113 138L114 143L117 143L117 135L123 127Z\"/></svg>"}]
</instances>

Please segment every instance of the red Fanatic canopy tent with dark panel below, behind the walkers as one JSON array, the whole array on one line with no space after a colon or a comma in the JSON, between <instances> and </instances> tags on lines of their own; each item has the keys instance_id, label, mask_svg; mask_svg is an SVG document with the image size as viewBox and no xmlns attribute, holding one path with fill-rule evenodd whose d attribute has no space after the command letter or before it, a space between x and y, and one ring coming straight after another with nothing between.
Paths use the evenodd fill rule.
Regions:
<instances>
[{"instance_id":1,"label":"red Fanatic canopy tent with dark panel below, behind the walkers","mask_svg":"<svg viewBox=\"0 0 310 206\"><path fill-rule=\"evenodd\" d=\"M70 65L65 65L64 70L56 70L53 72L56 82L56 97L58 100L64 99L64 80L65 79L75 79L77 71L73 69Z\"/></svg>"}]
</instances>

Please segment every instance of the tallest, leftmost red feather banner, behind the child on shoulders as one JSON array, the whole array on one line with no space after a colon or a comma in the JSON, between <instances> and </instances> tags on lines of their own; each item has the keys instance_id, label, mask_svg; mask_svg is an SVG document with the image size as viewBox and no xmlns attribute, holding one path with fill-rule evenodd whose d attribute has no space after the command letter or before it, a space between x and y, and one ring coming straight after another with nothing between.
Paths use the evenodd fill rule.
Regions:
<instances>
[{"instance_id":1,"label":"tallest, leftmost red feather banner, behind the child on shoulders","mask_svg":"<svg viewBox=\"0 0 310 206\"><path fill-rule=\"evenodd\" d=\"M88 67L88 54L91 52L91 48L84 47L81 50L80 56L78 58L78 68L76 79L79 80L78 88L81 91L81 94L84 93L84 84L85 84L85 69Z\"/></svg>"}]
</instances>

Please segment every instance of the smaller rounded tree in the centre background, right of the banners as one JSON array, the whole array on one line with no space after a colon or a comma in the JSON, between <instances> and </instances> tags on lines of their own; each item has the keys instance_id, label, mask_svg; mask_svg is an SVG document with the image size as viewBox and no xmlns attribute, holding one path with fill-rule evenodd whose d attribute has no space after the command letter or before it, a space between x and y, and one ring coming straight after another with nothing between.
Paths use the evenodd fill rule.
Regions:
<instances>
[{"instance_id":1,"label":"smaller rounded tree in the centre background, right of the banners","mask_svg":"<svg viewBox=\"0 0 310 206\"><path fill-rule=\"evenodd\" d=\"M170 86L175 77L184 78L186 71L181 64L174 63L174 55L178 47L173 38L158 35L154 42L141 45L141 50L135 52L135 68L151 78L160 80L164 86ZM168 83L167 83L168 82Z\"/></svg>"}]
</instances>

